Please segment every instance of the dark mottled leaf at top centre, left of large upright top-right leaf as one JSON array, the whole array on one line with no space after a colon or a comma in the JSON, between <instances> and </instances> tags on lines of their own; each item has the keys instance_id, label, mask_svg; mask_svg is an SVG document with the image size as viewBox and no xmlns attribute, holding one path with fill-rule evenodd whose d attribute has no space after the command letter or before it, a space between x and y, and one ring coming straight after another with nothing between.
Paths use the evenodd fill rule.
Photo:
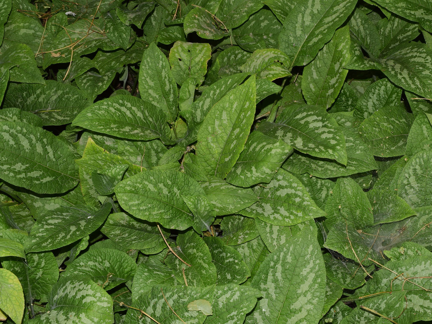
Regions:
<instances>
[{"instance_id":1,"label":"dark mottled leaf at top centre, left of large upright top-right leaf","mask_svg":"<svg viewBox=\"0 0 432 324\"><path fill-rule=\"evenodd\" d=\"M263 48L278 48L278 37L282 24L267 8L251 15L238 28L232 30L232 38L245 51Z\"/></svg>"}]
</instances>

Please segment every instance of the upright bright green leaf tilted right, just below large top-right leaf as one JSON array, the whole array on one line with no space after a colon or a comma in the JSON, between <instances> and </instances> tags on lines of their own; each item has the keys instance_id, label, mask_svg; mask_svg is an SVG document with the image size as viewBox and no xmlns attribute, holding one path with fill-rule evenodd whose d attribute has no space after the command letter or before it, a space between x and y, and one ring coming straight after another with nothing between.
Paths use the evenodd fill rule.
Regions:
<instances>
[{"instance_id":1,"label":"upright bright green leaf tilted right, just below large top-right leaf","mask_svg":"<svg viewBox=\"0 0 432 324\"><path fill-rule=\"evenodd\" d=\"M331 41L324 45L314 60L303 71L302 93L309 105L329 108L342 89L348 70L349 28L338 29Z\"/></svg>"}]
</instances>

